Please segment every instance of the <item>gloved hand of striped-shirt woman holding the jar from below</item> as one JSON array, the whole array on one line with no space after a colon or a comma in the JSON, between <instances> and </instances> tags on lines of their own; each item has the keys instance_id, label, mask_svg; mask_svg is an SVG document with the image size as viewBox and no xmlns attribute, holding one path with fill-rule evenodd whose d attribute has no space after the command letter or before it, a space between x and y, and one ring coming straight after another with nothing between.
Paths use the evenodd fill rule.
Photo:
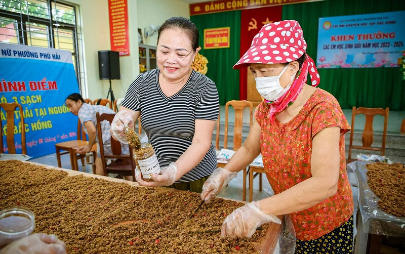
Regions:
<instances>
[{"instance_id":1,"label":"gloved hand of striped-shirt woman holding the jar from below","mask_svg":"<svg viewBox=\"0 0 405 254\"><path fill-rule=\"evenodd\" d=\"M142 186L170 186L176 181L177 177L177 166L174 162L170 163L169 166L160 168L160 175L152 174L150 177L153 182L143 180L138 167L136 167L135 171L136 181Z\"/></svg>"}]
</instances>

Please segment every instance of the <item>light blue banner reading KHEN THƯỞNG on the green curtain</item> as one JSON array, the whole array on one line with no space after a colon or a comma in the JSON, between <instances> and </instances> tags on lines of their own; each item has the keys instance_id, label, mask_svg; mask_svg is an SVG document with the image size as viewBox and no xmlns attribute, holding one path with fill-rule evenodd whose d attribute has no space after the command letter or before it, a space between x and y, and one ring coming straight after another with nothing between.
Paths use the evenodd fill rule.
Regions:
<instances>
[{"instance_id":1,"label":"light blue banner reading KHEN TH\u01af\u1edeNG on the green curtain","mask_svg":"<svg viewBox=\"0 0 405 254\"><path fill-rule=\"evenodd\" d=\"M398 67L404 17L405 11L319 18L316 67Z\"/></svg>"}]
</instances>

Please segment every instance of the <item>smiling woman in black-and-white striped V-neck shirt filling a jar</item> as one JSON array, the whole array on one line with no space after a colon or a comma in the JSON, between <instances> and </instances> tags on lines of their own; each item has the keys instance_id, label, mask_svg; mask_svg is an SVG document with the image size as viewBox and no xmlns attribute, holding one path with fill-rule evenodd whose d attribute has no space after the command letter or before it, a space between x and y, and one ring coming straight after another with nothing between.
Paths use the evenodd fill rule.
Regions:
<instances>
[{"instance_id":1,"label":"smiling woman in black-and-white striped V-neck shirt filling a jar","mask_svg":"<svg viewBox=\"0 0 405 254\"><path fill-rule=\"evenodd\" d=\"M219 114L218 91L207 76L191 69L198 52L198 29L188 19L170 18L158 31L157 69L131 83L111 124L114 138L125 143L124 126L139 116L153 146L161 175L143 186L172 186L201 192L217 166L212 134Z\"/></svg>"}]
</instances>

